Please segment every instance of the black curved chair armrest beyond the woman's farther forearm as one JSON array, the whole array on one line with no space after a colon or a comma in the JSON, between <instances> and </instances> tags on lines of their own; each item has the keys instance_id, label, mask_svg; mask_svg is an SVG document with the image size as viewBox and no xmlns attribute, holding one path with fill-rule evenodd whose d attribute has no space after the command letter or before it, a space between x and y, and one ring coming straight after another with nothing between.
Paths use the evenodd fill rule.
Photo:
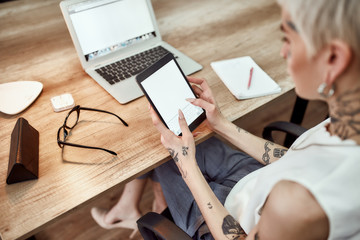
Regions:
<instances>
[{"instance_id":1,"label":"black curved chair armrest beyond the woman's farther forearm","mask_svg":"<svg viewBox=\"0 0 360 240\"><path fill-rule=\"evenodd\" d=\"M284 122L284 121L278 121L278 122L272 122L268 124L264 130L263 130L263 138L274 141L272 137L273 131L280 131L285 132L287 134L290 134L294 137L299 137L301 134L303 134L307 129L304 127L301 127L300 125L291 123L291 122Z\"/></svg>"}]
</instances>

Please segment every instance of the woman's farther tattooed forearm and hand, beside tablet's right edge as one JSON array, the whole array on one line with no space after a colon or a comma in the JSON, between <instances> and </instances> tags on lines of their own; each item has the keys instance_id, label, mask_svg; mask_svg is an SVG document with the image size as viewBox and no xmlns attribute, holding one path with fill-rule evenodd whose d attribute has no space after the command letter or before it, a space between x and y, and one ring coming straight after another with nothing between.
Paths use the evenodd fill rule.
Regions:
<instances>
[{"instance_id":1,"label":"woman's farther tattooed forearm and hand, beside tablet's right edge","mask_svg":"<svg viewBox=\"0 0 360 240\"><path fill-rule=\"evenodd\" d=\"M199 98L188 99L188 101L205 109L209 126L220 136L262 164L276 161L286 153L287 148L250 134L228 121L217 107L211 89L205 80L191 77L188 80L200 86L193 86Z\"/></svg>"}]
</instances>

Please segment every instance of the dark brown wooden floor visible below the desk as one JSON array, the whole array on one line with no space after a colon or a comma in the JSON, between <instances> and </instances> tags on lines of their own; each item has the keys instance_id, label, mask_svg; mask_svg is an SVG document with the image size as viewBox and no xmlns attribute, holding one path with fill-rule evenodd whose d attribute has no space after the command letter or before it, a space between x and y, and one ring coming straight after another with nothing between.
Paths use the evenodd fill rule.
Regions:
<instances>
[{"instance_id":1,"label":"dark brown wooden floor visible below the desk","mask_svg":"<svg viewBox=\"0 0 360 240\"><path fill-rule=\"evenodd\" d=\"M282 99L277 99L270 104L261 107L254 113L243 117L237 121L240 127L247 131L261 136L263 127L277 120L288 121L290 119L291 111L295 102L295 94L293 92L288 93ZM310 128L320 121L324 120L327 116L327 106L322 102L310 102L305 114L305 118L302 126ZM278 139L283 138L278 136ZM90 209L93 206L110 208L113 206L120 194L122 188L107 193L95 199L87 206L76 209L72 214L64 217L60 221L53 223L44 231L35 235L38 240L59 240L59 239L76 239L76 240L91 240L91 239L103 239L103 240L125 240L129 239L131 230L126 229L114 229L105 230L100 228L90 215ZM76 194L76 193L74 193ZM153 195L150 189L150 184L147 185L145 193L141 202L141 210L143 213L151 210ZM136 234L135 240L142 239L139 233Z\"/></svg>"}]
</instances>

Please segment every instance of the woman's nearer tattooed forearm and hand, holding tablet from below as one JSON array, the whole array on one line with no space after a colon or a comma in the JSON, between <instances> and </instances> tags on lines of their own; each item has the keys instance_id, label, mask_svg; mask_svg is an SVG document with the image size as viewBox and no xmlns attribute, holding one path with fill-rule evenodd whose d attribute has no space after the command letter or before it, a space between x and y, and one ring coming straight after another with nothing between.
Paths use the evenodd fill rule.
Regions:
<instances>
[{"instance_id":1,"label":"woman's nearer tattooed forearm and hand, holding tablet from below","mask_svg":"<svg viewBox=\"0 0 360 240\"><path fill-rule=\"evenodd\" d=\"M194 138L187 127L182 112L179 111L182 137L177 137L167 129L152 109L151 117L155 127L161 133L162 144L169 151L179 168L213 237L224 240L240 239L241 235L244 234L240 224L230 216L225 207L217 199L197 165Z\"/></svg>"}]
</instances>

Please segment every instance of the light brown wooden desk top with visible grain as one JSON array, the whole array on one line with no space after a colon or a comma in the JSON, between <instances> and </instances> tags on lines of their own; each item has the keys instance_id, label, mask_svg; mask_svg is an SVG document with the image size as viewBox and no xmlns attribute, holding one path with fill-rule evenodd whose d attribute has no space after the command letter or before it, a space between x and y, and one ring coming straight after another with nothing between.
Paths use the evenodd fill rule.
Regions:
<instances>
[{"instance_id":1,"label":"light brown wooden desk top with visible grain","mask_svg":"<svg viewBox=\"0 0 360 240\"><path fill-rule=\"evenodd\" d=\"M280 11L275 1L154 0L163 39L204 69L223 114L234 121L293 88L279 57ZM282 87L281 94L237 101L210 62L250 55ZM0 4L0 82L43 83L40 97L16 116L0 113L0 233L3 239L28 237L103 192L118 188L169 159L152 126L144 97L120 105L81 68L60 12L59 1L12 1ZM76 104L119 114L125 128L105 114L81 112L71 140L109 148L109 154L65 147L56 133L66 112L55 113L52 96L69 92ZM5 183L10 135L19 117L40 133L39 179ZM202 125L202 141L211 135ZM77 163L69 163L77 162Z\"/></svg>"}]
</instances>

